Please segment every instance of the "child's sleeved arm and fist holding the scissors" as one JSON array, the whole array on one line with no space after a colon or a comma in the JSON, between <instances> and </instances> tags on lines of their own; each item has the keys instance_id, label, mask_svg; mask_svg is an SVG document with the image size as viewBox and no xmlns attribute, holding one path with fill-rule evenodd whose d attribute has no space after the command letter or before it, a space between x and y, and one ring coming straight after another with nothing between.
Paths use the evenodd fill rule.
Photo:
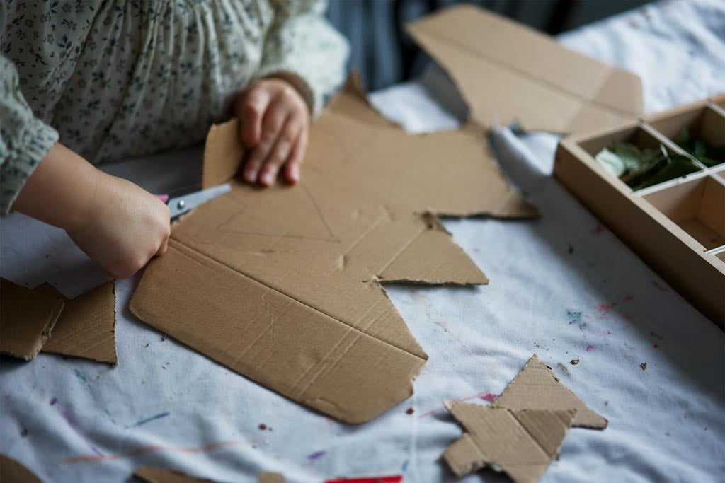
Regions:
<instances>
[{"instance_id":1,"label":"child's sleeved arm and fist holding the scissors","mask_svg":"<svg viewBox=\"0 0 725 483\"><path fill-rule=\"evenodd\" d=\"M57 140L25 102L14 64L0 56L0 214L17 209L66 230L117 278L163 253L167 206L132 182L100 172Z\"/></svg>"}]
</instances>

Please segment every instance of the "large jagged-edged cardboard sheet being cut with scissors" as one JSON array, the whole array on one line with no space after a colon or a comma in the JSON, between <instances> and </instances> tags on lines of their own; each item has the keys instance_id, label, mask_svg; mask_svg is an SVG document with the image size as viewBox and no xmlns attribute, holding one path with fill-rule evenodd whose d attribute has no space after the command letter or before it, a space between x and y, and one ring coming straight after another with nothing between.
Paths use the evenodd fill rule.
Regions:
<instances>
[{"instance_id":1,"label":"large jagged-edged cardboard sheet being cut with scissors","mask_svg":"<svg viewBox=\"0 0 725 483\"><path fill-rule=\"evenodd\" d=\"M207 146L223 148L207 148L206 162L236 156L233 142L236 128L212 130ZM233 182L174 224L130 309L288 398L362 423L410 396L426 361L378 280L486 283L435 215L537 212L479 130L407 135L355 80L312 126L306 162L295 187Z\"/></svg>"}]
</instances>

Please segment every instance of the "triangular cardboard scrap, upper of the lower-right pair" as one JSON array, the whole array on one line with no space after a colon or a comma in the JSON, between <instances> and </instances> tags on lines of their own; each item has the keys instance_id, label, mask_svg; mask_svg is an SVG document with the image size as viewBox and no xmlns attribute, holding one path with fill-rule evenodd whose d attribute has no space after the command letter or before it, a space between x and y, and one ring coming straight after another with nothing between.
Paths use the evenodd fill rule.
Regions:
<instances>
[{"instance_id":1,"label":"triangular cardboard scrap, upper of the lower-right pair","mask_svg":"<svg viewBox=\"0 0 725 483\"><path fill-rule=\"evenodd\" d=\"M510 382L492 407L549 411L572 409L576 411L573 426L595 429L607 427L607 420L589 409L581 399L559 382L551 369L536 354L531 356L526 366Z\"/></svg>"}]
</instances>

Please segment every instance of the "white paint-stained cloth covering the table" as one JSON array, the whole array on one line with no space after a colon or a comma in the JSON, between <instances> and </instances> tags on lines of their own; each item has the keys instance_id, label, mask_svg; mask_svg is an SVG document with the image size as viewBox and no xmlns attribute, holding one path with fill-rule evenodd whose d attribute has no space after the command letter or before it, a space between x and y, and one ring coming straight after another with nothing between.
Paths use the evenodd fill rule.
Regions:
<instances>
[{"instance_id":1,"label":"white paint-stained cloth covering the table","mask_svg":"<svg viewBox=\"0 0 725 483\"><path fill-rule=\"evenodd\" d=\"M637 72L647 112L725 85L725 2L666 1L560 41ZM411 132L455 127L465 113L436 69L372 100ZM429 355L409 400L363 426L307 410L138 322L128 311L133 277L116 282L117 367L1 358L0 453L49 482L125 481L137 466L222 482L258 471L289 482L452 481L440 455L461 430L442 400L487 404L538 353L610 422L603 432L572 429L543 481L722 481L723 332L552 180L554 135L502 129L493 138L542 219L445 222L489 285L386 287ZM200 159L196 149L105 169L159 193L197 182ZM3 277L51 282L70 297L107 280L65 232L20 214L0 226ZM463 480L481 479L502 477Z\"/></svg>"}]
</instances>

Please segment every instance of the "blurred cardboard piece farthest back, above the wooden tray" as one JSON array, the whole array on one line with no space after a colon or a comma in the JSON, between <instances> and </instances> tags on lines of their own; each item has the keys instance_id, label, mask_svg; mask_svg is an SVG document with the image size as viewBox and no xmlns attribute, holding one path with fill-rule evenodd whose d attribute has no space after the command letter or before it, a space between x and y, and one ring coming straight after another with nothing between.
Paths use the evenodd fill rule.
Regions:
<instances>
[{"instance_id":1,"label":"blurred cardboard piece farthest back, above the wooden tray","mask_svg":"<svg viewBox=\"0 0 725 483\"><path fill-rule=\"evenodd\" d=\"M530 130L582 132L642 113L642 81L552 38L472 6L407 26L450 74L474 122L519 121Z\"/></svg>"}]
</instances>

